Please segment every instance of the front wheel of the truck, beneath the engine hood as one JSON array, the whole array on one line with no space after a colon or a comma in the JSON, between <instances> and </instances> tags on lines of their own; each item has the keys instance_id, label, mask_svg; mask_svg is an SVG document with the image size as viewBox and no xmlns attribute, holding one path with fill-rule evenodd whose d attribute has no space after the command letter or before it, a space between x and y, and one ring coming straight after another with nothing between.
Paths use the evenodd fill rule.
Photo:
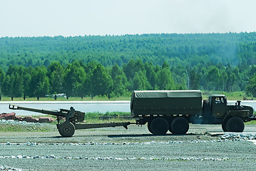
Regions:
<instances>
[{"instance_id":1,"label":"front wheel of the truck, beneath the engine hood","mask_svg":"<svg viewBox=\"0 0 256 171\"><path fill-rule=\"evenodd\" d=\"M242 131L245 130L245 123L242 121L241 118L232 117L227 120L226 129L227 132L242 133Z\"/></svg>"}]
</instances>

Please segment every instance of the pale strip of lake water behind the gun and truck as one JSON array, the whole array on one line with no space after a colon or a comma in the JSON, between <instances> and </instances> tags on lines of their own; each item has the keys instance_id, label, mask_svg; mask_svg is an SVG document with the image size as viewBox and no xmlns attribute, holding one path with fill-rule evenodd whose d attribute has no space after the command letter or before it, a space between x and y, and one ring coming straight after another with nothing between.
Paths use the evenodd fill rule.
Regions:
<instances>
[{"instance_id":1,"label":"pale strip of lake water behind the gun and truck","mask_svg":"<svg viewBox=\"0 0 256 171\"><path fill-rule=\"evenodd\" d=\"M235 100L228 100L227 103L230 105L235 104ZM71 106L75 110L82 112L91 113L106 113L106 112L130 112L130 101L12 101L12 102L1 102L0 101L0 113L16 113L16 115L42 115L41 113L34 113L25 110L10 110L9 103L21 105L28 108L38 108L46 110L59 110L60 108L69 109ZM256 110L256 100L242 100L242 105L250 105Z\"/></svg>"}]
</instances>

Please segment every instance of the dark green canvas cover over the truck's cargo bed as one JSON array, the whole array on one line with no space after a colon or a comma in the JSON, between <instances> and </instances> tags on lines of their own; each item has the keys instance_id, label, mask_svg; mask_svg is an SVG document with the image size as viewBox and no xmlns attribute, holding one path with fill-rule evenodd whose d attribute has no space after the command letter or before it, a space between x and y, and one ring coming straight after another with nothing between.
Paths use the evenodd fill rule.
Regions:
<instances>
[{"instance_id":1,"label":"dark green canvas cover over the truck's cargo bed","mask_svg":"<svg viewBox=\"0 0 256 171\"><path fill-rule=\"evenodd\" d=\"M196 115L202 109L200 90L134 90L130 110L138 115Z\"/></svg>"}]
</instances>

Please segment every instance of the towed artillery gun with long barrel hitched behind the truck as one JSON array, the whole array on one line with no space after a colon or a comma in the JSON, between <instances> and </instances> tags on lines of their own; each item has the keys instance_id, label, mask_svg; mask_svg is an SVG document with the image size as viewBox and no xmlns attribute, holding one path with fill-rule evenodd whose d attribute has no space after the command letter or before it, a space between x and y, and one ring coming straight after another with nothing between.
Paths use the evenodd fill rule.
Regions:
<instances>
[{"instance_id":1,"label":"towed artillery gun with long barrel hitched behind the truck","mask_svg":"<svg viewBox=\"0 0 256 171\"><path fill-rule=\"evenodd\" d=\"M107 127L116 127L123 126L128 129L127 126L130 125L127 123L94 123L94 124L80 124L83 122L85 114L81 111L75 110L71 107L69 110L60 109L60 110L44 110L36 108L26 108L19 105L9 104L9 109L13 110L27 110L36 113L43 113L48 115L54 115L57 117L57 128L58 133L63 137L71 137L75 130L81 129L91 129L91 128L107 128ZM65 121L61 121L62 118L65 118Z\"/></svg>"}]
</instances>

